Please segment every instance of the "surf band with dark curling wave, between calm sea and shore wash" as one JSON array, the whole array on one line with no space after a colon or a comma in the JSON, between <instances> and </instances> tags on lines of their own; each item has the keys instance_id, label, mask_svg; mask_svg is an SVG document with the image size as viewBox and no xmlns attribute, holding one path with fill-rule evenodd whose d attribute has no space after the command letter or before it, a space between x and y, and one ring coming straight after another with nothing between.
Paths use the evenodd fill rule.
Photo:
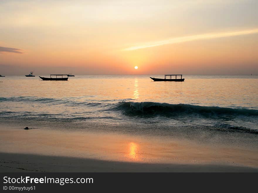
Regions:
<instances>
[{"instance_id":1,"label":"surf band with dark curling wave, between calm sea and shore wash","mask_svg":"<svg viewBox=\"0 0 258 193\"><path fill-rule=\"evenodd\" d=\"M194 127L258 133L258 110L158 102L133 99L0 97L0 119L96 121L136 123L157 127Z\"/></svg>"}]
</instances>

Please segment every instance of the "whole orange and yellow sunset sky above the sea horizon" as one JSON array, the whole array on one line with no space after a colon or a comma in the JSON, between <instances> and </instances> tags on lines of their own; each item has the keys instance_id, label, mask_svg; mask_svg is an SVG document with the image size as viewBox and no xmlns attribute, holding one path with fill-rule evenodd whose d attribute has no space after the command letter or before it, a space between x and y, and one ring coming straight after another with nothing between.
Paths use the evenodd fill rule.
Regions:
<instances>
[{"instance_id":1,"label":"whole orange and yellow sunset sky above the sea horizon","mask_svg":"<svg viewBox=\"0 0 258 193\"><path fill-rule=\"evenodd\" d=\"M257 0L1 0L0 74L258 74L257 8Z\"/></svg>"}]
</instances>

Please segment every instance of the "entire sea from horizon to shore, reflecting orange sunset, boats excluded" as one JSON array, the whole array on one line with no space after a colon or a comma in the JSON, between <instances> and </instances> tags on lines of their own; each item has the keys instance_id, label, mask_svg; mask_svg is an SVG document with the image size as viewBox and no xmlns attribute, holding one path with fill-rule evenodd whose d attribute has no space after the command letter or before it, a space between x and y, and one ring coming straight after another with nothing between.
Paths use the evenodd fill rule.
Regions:
<instances>
[{"instance_id":1,"label":"entire sea from horizon to shore, reflecting orange sunset, boats excluded","mask_svg":"<svg viewBox=\"0 0 258 193\"><path fill-rule=\"evenodd\" d=\"M40 75L49 77L47 75ZM0 121L22 126L171 135L258 133L257 75L75 75L0 77Z\"/></svg>"}]
</instances>

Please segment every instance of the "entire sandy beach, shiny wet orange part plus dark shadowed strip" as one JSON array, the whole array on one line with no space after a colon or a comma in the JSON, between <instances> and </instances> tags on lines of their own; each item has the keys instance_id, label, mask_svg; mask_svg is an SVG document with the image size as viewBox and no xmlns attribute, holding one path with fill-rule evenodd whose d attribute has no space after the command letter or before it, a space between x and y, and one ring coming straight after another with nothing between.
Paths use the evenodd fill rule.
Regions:
<instances>
[{"instance_id":1,"label":"entire sandy beach, shiny wet orange part plus dark shadowed strip","mask_svg":"<svg viewBox=\"0 0 258 193\"><path fill-rule=\"evenodd\" d=\"M258 150L157 136L0 128L0 172L258 172Z\"/></svg>"}]
</instances>

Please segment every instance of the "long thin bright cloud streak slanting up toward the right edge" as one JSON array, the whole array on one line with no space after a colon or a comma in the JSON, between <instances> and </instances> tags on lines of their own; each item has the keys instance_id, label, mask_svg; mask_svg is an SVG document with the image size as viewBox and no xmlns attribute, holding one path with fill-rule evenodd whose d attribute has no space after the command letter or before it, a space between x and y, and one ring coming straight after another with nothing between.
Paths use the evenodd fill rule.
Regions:
<instances>
[{"instance_id":1,"label":"long thin bright cloud streak slanting up toward the right edge","mask_svg":"<svg viewBox=\"0 0 258 193\"><path fill-rule=\"evenodd\" d=\"M162 41L149 42L149 43L146 43L141 46L132 46L132 47L123 49L123 51L132 51L132 50L150 48L150 47L155 47L155 46L162 46L162 45L166 45L166 44L182 43L182 42L187 42L187 41L213 39L213 38L223 38L223 37L231 37L231 36L240 36L240 35L247 35L247 34L253 34L253 33L258 33L258 28L252 29L252 30L246 30L246 31L233 31L233 32L224 32L224 33L206 33L206 34L200 34L200 35L171 38L171 39L162 40Z\"/></svg>"}]
</instances>

